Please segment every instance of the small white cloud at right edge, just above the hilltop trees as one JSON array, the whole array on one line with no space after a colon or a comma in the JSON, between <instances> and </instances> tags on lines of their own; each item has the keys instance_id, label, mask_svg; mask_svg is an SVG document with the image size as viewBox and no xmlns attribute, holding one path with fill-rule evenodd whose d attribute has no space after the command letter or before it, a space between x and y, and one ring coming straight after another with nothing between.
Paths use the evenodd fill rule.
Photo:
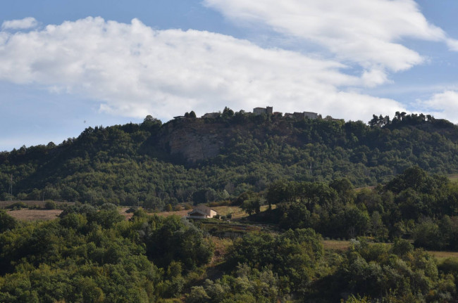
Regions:
<instances>
[{"instance_id":1,"label":"small white cloud at right edge, just above the hilltop trees","mask_svg":"<svg viewBox=\"0 0 458 303\"><path fill-rule=\"evenodd\" d=\"M426 101L418 100L416 106L420 111L431 113L436 118L458 123L458 91L434 94Z\"/></svg>"}]
</instances>

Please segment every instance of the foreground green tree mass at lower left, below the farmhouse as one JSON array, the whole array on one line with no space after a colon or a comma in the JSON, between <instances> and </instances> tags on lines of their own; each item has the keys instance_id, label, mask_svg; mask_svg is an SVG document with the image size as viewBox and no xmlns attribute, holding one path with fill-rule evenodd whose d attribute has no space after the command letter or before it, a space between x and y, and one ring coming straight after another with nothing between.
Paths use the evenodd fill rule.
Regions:
<instances>
[{"instance_id":1,"label":"foreground green tree mass at lower left, below the farmhouse","mask_svg":"<svg viewBox=\"0 0 458 303\"><path fill-rule=\"evenodd\" d=\"M35 223L0 211L0 226L0 302L159 302L213 255L187 221L142 210L125 221L109 204Z\"/></svg>"}]
</instances>

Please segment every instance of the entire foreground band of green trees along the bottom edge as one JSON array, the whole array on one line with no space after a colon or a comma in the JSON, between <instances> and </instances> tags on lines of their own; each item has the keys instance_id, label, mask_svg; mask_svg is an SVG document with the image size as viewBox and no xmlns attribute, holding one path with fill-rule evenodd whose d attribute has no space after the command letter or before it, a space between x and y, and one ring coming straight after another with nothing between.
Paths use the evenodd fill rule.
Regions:
<instances>
[{"instance_id":1,"label":"entire foreground band of green trees along the bottom edge","mask_svg":"<svg viewBox=\"0 0 458 303\"><path fill-rule=\"evenodd\" d=\"M407 240L326 252L311 228L237 238L210 276L213 244L178 217L76 205L49 222L0 212L1 302L456 302L458 263ZM213 265L214 266L214 265ZM215 274L216 271L217 273Z\"/></svg>"}]
</instances>

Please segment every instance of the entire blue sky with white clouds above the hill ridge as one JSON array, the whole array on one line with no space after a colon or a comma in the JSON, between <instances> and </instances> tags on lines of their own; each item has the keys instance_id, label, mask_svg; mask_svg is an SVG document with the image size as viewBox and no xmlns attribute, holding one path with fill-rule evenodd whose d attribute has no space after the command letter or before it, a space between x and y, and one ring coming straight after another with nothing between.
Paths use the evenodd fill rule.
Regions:
<instances>
[{"instance_id":1,"label":"entire blue sky with white clouds above the hill ridge","mask_svg":"<svg viewBox=\"0 0 458 303\"><path fill-rule=\"evenodd\" d=\"M0 150L194 110L458 123L456 0L0 4Z\"/></svg>"}]
</instances>

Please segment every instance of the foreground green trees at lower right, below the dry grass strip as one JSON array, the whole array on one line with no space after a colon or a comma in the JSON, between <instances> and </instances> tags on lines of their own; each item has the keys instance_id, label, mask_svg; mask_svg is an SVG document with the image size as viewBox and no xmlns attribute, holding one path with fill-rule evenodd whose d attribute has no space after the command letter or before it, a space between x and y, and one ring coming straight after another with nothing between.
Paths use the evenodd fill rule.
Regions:
<instances>
[{"instance_id":1,"label":"foreground green trees at lower right, below the dry grass strip","mask_svg":"<svg viewBox=\"0 0 458 303\"><path fill-rule=\"evenodd\" d=\"M407 240L355 240L348 252L323 252L311 229L235 241L216 281L192 288L187 302L456 302L457 262L440 266ZM342 301L340 301L342 300Z\"/></svg>"}]
</instances>

